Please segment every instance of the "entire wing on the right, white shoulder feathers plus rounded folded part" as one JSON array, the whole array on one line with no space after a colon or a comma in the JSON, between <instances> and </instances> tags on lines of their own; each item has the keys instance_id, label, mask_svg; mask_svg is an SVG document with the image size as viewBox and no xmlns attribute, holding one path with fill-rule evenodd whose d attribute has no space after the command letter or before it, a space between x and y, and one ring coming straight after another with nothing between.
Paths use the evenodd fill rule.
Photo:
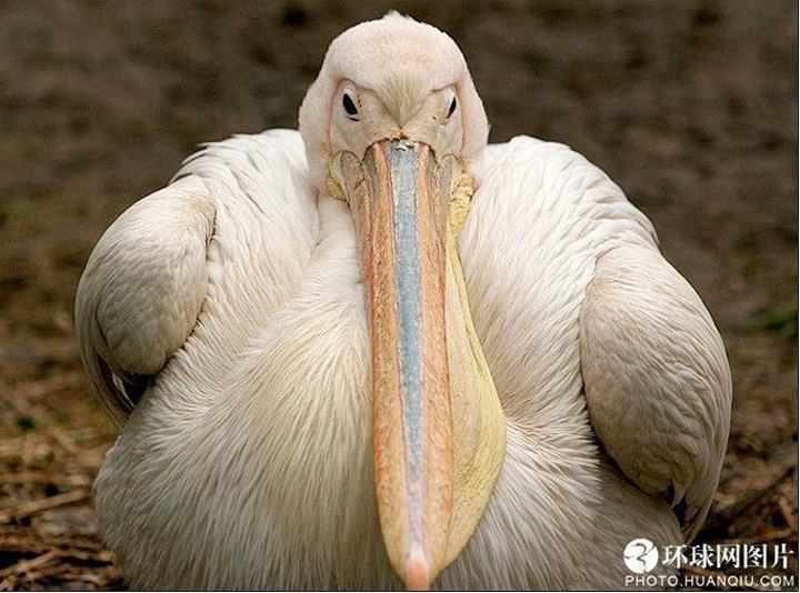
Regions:
<instances>
[{"instance_id":1,"label":"entire wing on the right, white shoulder feathers plus rounded folded part","mask_svg":"<svg viewBox=\"0 0 800 593\"><path fill-rule=\"evenodd\" d=\"M487 151L460 251L507 421L577 460L588 402L606 451L692 536L722 464L730 371L650 221L582 155L518 137Z\"/></svg>"}]
</instances>

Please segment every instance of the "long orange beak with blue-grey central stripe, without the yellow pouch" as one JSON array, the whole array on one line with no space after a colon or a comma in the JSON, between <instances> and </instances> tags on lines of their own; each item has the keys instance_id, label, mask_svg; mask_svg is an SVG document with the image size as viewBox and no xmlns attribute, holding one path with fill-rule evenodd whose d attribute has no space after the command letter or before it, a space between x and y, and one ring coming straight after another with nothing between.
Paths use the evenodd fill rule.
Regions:
<instances>
[{"instance_id":1,"label":"long orange beak with blue-grey central stripe, without the yellow pouch","mask_svg":"<svg viewBox=\"0 0 800 593\"><path fill-rule=\"evenodd\" d=\"M409 589L446 563L453 499L444 318L449 179L430 148L338 155L369 293L374 469L389 560Z\"/></svg>"}]
</instances>

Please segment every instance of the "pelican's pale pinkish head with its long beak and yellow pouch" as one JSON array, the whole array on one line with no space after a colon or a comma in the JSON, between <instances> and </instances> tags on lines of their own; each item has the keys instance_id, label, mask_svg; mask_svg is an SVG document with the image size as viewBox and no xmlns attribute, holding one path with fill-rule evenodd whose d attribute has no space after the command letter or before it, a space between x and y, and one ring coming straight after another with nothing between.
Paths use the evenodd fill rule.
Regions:
<instances>
[{"instance_id":1,"label":"pelican's pale pinkish head with its long beak and yellow pouch","mask_svg":"<svg viewBox=\"0 0 800 593\"><path fill-rule=\"evenodd\" d=\"M488 129L458 46L397 13L337 38L300 108L312 181L353 215L378 510L410 589L467 544L504 452L456 247Z\"/></svg>"}]
</instances>

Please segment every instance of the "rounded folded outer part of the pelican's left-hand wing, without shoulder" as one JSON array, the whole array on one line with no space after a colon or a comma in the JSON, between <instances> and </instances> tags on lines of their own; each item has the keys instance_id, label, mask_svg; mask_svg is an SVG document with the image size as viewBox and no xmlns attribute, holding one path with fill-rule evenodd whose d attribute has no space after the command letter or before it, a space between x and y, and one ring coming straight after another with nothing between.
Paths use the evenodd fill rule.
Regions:
<instances>
[{"instance_id":1,"label":"rounded folded outer part of the pelican's left-hand wing, without shoulder","mask_svg":"<svg viewBox=\"0 0 800 593\"><path fill-rule=\"evenodd\" d=\"M197 321L214 208L189 175L128 209L94 248L76 296L81 355L118 421Z\"/></svg>"}]
</instances>

